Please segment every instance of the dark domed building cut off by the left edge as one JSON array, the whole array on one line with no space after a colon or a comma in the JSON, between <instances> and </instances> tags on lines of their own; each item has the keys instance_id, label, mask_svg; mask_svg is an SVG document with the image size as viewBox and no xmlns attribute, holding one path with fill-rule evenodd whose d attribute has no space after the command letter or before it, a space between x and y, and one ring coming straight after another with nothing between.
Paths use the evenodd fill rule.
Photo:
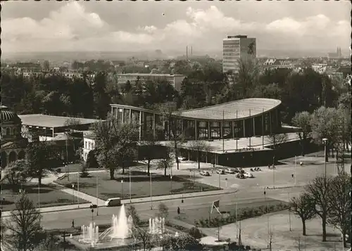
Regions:
<instances>
[{"instance_id":1,"label":"dark domed building cut off by the left edge","mask_svg":"<svg viewBox=\"0 0 352 251\"><path fill-rule=\"evenodd\" d=\"M27 139L22 136L22 121L15 112L1 105L1 167L25 158Z\"/></svg>"}]
</instances>

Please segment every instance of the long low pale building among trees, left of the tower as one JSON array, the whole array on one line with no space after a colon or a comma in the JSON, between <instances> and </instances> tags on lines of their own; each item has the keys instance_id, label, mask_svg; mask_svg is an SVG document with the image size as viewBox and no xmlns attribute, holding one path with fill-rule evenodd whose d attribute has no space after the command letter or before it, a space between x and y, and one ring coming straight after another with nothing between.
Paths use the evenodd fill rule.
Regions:
<instances>
[{"instance_id":1,"label":"long low pale building among trees, left of the tower","mask_svg":"<svg viewBox=\"0 0 352 251\"><path fill-rule=\"evenodd\" d=\"M165 81L168 82L175 90L181 90L181 84L183 79L186 77L184 75L172 75L172 74L145 74L145 73L126 73L118 74L118 84L126 84L130 82L132 86L136 84L137 80L146 82L148 80L153 82Z\"/></svg>"}]
</instances>

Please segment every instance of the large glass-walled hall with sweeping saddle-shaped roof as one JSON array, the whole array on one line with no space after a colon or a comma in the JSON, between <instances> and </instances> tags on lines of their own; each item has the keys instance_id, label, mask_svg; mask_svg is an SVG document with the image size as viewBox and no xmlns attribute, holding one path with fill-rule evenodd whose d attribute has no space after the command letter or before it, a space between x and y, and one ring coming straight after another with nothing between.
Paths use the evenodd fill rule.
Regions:
<instances>
[{"instance_id":1,"label":"large glass-walled hall with sweeping saddle-shaped roof","mask_svg":"<svg viewBox=\"0 0 352 251\"><path fill-rule=\"evenodd\" d=\"M170 121L156 111L130 105L111 104L111 113L119 123L139 124L139 140L152 133L158 140L170 140L172 134L185 140L238 139L275 133L281 128L281 101L269 98L247 98L206 108L177 112L171 131ZM158 130L157 128L162 128Z\"/></svg>"}]
</instances>

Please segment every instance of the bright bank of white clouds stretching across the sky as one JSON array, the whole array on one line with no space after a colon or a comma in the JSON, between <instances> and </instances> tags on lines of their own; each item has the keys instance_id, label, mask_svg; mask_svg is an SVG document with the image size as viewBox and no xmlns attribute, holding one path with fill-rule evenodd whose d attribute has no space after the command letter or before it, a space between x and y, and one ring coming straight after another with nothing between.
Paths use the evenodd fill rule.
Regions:
<instances>
[{"instance_id":1,"label":"bright bank of white clouds stretching across the sky","mask_svg":"<svg viewBox=\"0 0 352 251\"><path fill-rule=\"evenodd\" d=\"M134 18L131 16L130 18ZM163 16L161 16L163 18ZM118 20L116 22L128 22ZM52 11L46 18L8 18L2 21L4 51L63 51L99 50L119 51L143 49L184 49L187 44L206 51L222 49L222 39L227 34L249 34L257 37L258 48L297 44L315 48L334 48L337 44L348 46L351 27L348 20L331 20L326 15L313 15L303 19L279 18L270 22L258 20L244 22L226 16L216 6L187 8L184 18L165 25L137 26L117 30L101 16L87 11L77 1ZM322 39L324 38L324 39Z\"/></svg>"}]
</instances>

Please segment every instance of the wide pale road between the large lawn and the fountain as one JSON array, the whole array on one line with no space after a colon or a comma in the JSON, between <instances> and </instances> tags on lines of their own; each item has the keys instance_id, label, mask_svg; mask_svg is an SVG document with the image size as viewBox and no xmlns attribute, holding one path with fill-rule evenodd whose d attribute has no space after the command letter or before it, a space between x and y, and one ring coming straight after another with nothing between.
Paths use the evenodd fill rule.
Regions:
<instances>
[{"instance_id":1,"label":"wide pale road between the large lawn and the fountain","mask_svg":"<svg viewBox=\"0 0 352 251\"><path fill-rule=\"evenodd\" d=\"M267 193L266 200L262 189L253 189L253 191L238 191L237 193L223 195L187 198L184 199L184 203L181 202L181 199L165 200L163 202L168 206L169 212L176 212L177 207L180 207L181 210L196 210L199 207L209 207L214 200L220 200L221 210L221 205L234 205L235 202L238 202L239 207L247 207L264 205L265 201L270 202L272 199L287 200L289 192L291 195L297 195L301 190L302 188L299 187L270 190ZM151 210L151 202L136 203L134 206L142 219L148 219L155 216L158 212L158 203L153 203L153 210ZM118 214L119 211L120 207L100 207L99 216L96 216L96 210L94 210L94 221L96 224L110 224L112 215ZM90 209L47 212L43 213L42 216L42 224L45 229L69 228L73 219L75 220L75 226L89 224L92 221L92 212Z\"/></svg>"}]
</instances>

